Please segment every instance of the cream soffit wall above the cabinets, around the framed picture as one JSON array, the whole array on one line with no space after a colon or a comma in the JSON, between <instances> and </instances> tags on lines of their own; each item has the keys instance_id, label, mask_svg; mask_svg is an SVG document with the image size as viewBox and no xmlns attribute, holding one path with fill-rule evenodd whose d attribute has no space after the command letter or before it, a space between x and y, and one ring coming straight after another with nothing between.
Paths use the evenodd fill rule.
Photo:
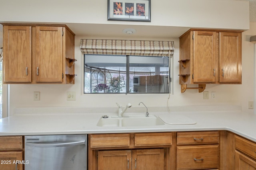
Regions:
<instances>
[{"instance_id":1,"label":"cream soffit wall above the cabinets, around the framed picture","mask_svg":"<svg viewBox=\"0 0 256 170\"><path fill-rule=\"evenodd\" d=\"M107 20L107 0L1 0L0 22L60 22L249 28L249 2L239 0L151 0L151 22Z\"/></svg>"}]
</instances>

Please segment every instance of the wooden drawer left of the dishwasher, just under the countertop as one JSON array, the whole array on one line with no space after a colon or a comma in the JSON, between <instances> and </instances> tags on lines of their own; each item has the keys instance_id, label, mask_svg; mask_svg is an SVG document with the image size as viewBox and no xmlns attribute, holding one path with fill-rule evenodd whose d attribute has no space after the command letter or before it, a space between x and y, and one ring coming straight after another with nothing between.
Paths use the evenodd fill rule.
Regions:
<instances>
[{"instance_id":1,"label":"wooden drawer left of the dishwasher, just under the countertop","mask_svg":"<svg viewBox=\"0 0 256 170\"><path fill-rule=\"evenodd\" d=\"M22 150L22 136L0 137L0 151Z\"/></svg>"}]
</instances>

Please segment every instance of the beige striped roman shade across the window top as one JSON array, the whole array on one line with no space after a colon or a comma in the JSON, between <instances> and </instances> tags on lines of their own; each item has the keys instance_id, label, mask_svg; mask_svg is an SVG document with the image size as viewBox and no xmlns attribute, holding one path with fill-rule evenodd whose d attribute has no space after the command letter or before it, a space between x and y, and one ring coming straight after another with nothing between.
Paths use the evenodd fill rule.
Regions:
<instances>
[{"instance_id":1,"label":"beige striped roman shade across the window top","mask_svg":"<svg viewBox=\"0 0 256 170\"><path fill-rule=\"evenodd\" d=\"M112 39L81 39L83 54L99 55L140 55L140 56L172 56L173 41L137 41Z\"/></svg>"}]
</instances>

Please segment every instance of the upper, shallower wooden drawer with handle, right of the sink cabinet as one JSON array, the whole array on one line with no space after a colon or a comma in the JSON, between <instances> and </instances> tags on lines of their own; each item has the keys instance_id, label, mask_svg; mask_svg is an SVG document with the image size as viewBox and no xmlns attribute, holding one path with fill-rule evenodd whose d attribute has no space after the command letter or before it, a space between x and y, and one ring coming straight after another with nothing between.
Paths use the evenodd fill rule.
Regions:
<instances>
[{"instance_id":1,"label":"upper, shallower wooden drawer with handle, right of the sink cabinet","mask_svg":"<svg viewBox=\"0 0 256 170\"><path fill-rule=\"evenodd\" d=\"M191 144L214 144L219 143L218 131L204 131L204 132L178 132L177 145L191 145Z\"/></svg>"}]
</instances>

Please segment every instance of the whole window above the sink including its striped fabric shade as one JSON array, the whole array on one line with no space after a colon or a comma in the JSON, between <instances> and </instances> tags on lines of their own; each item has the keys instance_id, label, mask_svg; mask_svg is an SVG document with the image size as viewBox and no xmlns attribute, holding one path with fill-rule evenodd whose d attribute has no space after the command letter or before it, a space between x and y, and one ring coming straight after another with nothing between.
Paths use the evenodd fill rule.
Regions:
<instances>
[{"instance_id":1,"label":"whole window above the sink including its striped fabric shade","mask_svg":"<svg viewBox=\"0 0 256 170\"><path fill-rule=\"evenodd\" d=\"M169 93L173 41L81 39L84 93Z\"/></svg>"}]
</instances>

